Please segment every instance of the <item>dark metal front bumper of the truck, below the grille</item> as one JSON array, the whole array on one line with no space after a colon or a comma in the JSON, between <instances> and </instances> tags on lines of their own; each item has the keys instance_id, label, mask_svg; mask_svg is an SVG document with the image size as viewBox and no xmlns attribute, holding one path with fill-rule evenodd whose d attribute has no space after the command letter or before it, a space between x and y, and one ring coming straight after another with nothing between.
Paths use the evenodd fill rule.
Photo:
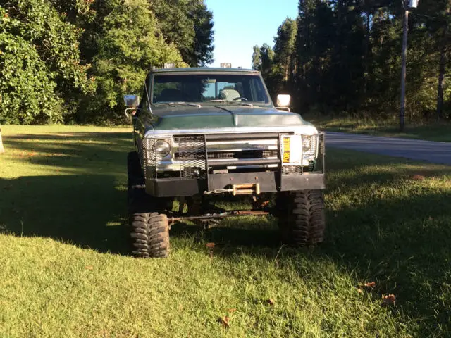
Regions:
<instances>
[{"instance_id":1,"label":"dark metal front bumper of the truck, below the grille","mask_svg":"<svg viewBox=\"0 0 451 338\"><path fill-rule=\"evenodd\" d=\"M211 174L206 180L163 178L146 180L146 192L157 197L192 196L215 189L228 189L232 184L260 184L260 192L284 192L324 189L323 173L281 175L275 172Z\"/></svg>"}]
</instances>

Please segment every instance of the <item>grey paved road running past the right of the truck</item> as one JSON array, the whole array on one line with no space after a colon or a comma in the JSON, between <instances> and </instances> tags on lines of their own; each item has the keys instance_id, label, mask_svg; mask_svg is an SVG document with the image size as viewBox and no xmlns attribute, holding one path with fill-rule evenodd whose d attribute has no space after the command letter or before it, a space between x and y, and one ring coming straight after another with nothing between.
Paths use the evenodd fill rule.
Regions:
<instances>
[{"instance_id":1,"label":"grey paved road running past the right of the truck","mask_svg":"<svg viewBox=\"0 0 451 338\"><path fill-rule=\"evenodd\" d=\"M326 132L326 146L451 165L451 142Z\"/></svg>"}]
</instances>

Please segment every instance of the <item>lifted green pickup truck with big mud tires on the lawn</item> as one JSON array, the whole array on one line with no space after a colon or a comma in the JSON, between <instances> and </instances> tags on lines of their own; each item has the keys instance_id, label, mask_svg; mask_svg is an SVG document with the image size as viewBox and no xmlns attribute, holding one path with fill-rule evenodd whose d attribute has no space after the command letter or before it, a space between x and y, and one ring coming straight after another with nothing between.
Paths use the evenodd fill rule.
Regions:
<instances>
[{"instance_id":1,"label":"lifted green pickup truck with big mud tires on the lawn","mask_svg":"<svg viewBox=\"0 0 451 338\"><path fill-rule=\"evenodd\" d=\"M124 97L135 139L128 154L134 256L168 256L176 221L239 215L276 216L286 244L323 240L324 134L290 113L290 96L279 95L275 107L259 72L233 68L153 70L143 92L142 100ZM247 195L254 208L209 203L226 195Z\"/></svg>"}]
</instances>

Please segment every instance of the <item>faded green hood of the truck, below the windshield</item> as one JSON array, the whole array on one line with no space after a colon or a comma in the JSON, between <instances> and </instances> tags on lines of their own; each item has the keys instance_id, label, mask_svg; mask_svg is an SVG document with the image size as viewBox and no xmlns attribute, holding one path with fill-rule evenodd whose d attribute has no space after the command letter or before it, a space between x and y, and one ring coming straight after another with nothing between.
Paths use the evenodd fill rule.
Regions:
<instances>
[{"instance_id":1,"label":"faded green hood of the truck, below the windshield","mask_svg":"<svg viewBox=\"0 0 451 338\"><path fill-rule=\"evenodd\" d=\"M297 113L247 106L156 107L154 130L311 125Z\"/></svg>"}]
</instances>

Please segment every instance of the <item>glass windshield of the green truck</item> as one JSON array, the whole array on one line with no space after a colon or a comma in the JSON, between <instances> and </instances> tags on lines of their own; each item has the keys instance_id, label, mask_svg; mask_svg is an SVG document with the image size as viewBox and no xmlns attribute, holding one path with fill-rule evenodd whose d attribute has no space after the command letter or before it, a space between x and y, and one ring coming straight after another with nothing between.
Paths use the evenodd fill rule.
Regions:
<instances>
[{"instance_id":1,"label":"glass windshield of the green truck","mask_svg":"<svg viewBox=\"0 0 451 338\"><path fill-rule=\"evenodd\" d=\"M259 75L154 75L152 103L211 102L270 104Z\"/></svg>"}]
</instances>

